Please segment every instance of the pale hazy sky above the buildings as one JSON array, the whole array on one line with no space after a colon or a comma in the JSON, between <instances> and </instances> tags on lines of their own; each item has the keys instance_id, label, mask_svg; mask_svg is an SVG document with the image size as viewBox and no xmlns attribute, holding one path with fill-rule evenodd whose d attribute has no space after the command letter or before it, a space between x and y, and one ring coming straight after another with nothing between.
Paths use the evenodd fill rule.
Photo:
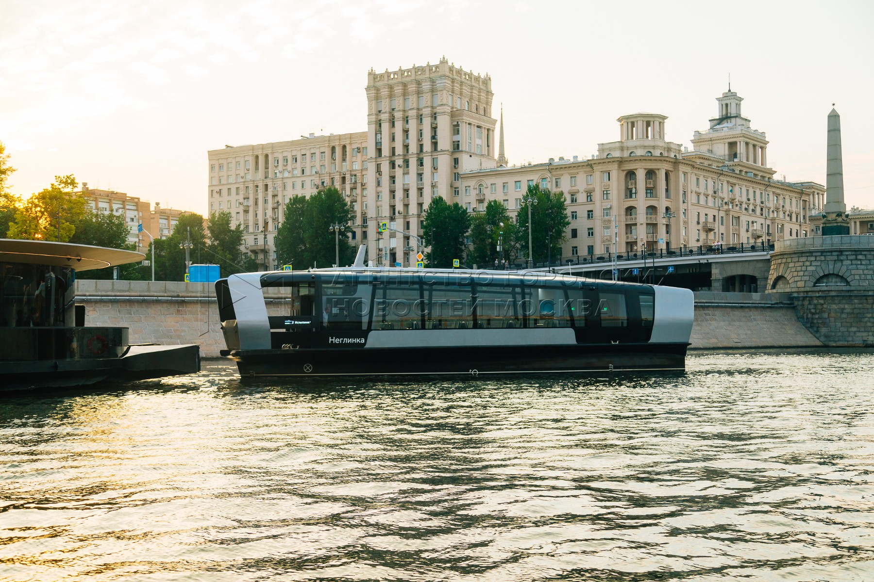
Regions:
<instances>
[{"instance_id":1,"label":"pale hazy sky above the buildings","mask_svg":"<svg viewBox=\"0 0 874 582\"><path fill-rule=\"evenodd\" d=\"M367 72L442 56L488 73L510 163L591 156L616 118L689 146L726 90L781 179L874 208L874 3L0 0L0 141L19 195L73 174L205 213L207 150L366 130Z\"/></svg>"}]
</instances>

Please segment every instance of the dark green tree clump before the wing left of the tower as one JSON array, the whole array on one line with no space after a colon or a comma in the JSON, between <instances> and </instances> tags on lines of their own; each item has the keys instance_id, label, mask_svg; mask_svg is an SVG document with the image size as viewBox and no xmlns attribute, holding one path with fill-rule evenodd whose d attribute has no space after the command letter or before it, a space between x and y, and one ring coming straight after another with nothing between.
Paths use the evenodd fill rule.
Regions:
<instances>
[{"instance_id":1,"label":"dark green tree clump before the wing left of the tower","mask_svg":"<svg viewBox=\"0 0 874 582\"><path fill-rule=\"evenodd\" d=\"M329 227L331 224L345 226L351 220L352 209L334 187L320 190L309 198L293 197L285 206L285 216L274 239L279 263L291 264L295 269L334 264L335 235ZM355 251L345 232L339 235L339 250L340 265L351 264Z\"/></svg>"}]
</instances>

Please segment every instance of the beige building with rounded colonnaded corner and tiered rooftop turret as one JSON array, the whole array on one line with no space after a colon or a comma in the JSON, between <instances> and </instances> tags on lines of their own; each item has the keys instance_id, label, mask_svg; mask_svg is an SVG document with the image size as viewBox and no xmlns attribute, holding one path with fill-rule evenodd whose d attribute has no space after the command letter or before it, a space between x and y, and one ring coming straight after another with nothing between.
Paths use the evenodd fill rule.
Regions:
<instances>
[{"instance_id":1,"label":"beige building with rounded colonnaded corner and tiered rooftop turret","mask_svg":"<svg viewBox=\"0 0 874 582\"><path fill-rule=\"evenodd\" d=\"M766 134L741 115L742 100L723 93L717 116L695 132L691 150L667 140L666 116L624 115L619 140L598 144L588 160L462 174L460 202L474 212L498 200L512 213L531 184L563 191L571 219L565 259L814 235L809 216L822 212L825 188L774 180Z\"/></svg>"}]
</instances>

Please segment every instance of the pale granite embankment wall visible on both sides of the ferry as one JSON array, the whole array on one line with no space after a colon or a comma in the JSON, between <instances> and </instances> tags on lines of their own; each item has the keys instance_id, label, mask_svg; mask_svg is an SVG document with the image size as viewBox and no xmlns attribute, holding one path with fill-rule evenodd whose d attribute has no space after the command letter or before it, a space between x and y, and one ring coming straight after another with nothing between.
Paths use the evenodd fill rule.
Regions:
<instances>
[{"instance_id":1,"label":"pale granite embankment wall visible on both sides of the ferry","mask_svg":"<svg viewBox=\"0 0 874 582\"><path fill-rule=\"evenodd\" d=\"M86 325L130 329L132 344L198 344L205 358L225 349L212 284L176 281L76 282ZM269 296L268 296L269 300ZM282 301L269 300L280 314ZM795 315L788 294L695 294L693 348L822 346Z\"/></svg>"}]
</instances>

